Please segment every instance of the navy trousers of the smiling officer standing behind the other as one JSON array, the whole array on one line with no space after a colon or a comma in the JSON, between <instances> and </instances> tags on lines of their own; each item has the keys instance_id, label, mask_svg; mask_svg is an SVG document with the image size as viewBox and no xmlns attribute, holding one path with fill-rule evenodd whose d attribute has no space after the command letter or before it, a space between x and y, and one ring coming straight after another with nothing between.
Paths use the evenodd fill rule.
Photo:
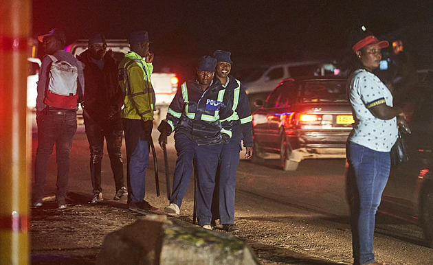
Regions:
<instances>
[{"instance_id":1,"label":"navy trousers of the smiling officer standing behind the other","mask_svg":"<svg viewBox=\"0 0 433 265\"><path fill-rule=\"evenodd\" d=\"M221 224L234 224L234 194L236 189L236 171L242 135L230 139L223 145L219 168L216 172L216 185L212 196L212 219L219 219Z\"/></svg>"}]
</instances>

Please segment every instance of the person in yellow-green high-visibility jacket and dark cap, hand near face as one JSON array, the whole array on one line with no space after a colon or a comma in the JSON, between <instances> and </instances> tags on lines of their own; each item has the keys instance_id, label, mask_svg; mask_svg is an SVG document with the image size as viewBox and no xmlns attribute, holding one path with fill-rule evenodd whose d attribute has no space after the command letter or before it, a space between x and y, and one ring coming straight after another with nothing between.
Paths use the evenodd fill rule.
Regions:
<instances>
[{"instance_id":1,"label":"person in yellow-green high-visibility jacket and dark cap, hand near face","mask_svg":"<svg viewBox=\"0 0 433 265\"><path fill-rule=\"evenodd\" d=\"M122 122L128 163L128 207L132 211L157 210L144 200L155 111L155 92L151 84L154 55L149 52L149 43L146 31L132 32L131 51L119 65L119 83L125 96Z\"/></svg>"}]
</instances>

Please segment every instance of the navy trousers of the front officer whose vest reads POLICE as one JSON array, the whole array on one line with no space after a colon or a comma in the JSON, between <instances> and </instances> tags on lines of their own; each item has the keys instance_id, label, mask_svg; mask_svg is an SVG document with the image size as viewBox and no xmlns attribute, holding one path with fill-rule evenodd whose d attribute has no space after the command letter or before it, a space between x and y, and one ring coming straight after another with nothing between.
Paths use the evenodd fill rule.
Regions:
<instances>
[{"instance_id":1,"label":"navy trousers of the front officer whose vest reads POLICE","mask_svg":"<svg viewBox=\"0 0 433 265\"><path fill-rule=\"evenodd\" d=\"M183 133L178 133L175 134L175 148L177 160L170 203L181 207L191 179L192 161L195 159L198 173L197 220L200 226L210 224L210 205L222 146L198 146Z\"/></svg>"}]
</instances>

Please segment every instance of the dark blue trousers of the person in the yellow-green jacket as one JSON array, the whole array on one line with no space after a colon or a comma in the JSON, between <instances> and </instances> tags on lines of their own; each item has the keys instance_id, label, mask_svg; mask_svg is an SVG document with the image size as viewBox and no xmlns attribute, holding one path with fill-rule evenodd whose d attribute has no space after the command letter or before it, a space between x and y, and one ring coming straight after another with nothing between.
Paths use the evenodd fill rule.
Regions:
<instances>
[{"instance_id":1,"label":"dark blue trousers of the person in the yellow-green jacket","mask_svg":"<svg viewBox=\"0 0 433 265\"><path fill-rule=\"evenodd\" d=\"M141 119L122 119L125 133L128 201L144 200L146 169L149 165L149 132L144 130Z\"/></svg>"}]
</instances>

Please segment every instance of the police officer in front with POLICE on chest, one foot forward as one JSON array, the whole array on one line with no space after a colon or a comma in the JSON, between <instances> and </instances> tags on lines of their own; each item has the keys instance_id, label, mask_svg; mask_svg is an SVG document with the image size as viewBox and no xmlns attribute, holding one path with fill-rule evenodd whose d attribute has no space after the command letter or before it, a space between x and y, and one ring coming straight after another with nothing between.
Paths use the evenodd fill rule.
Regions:
<instances>
[{"instance_id":1,"label":"police officer in front with POLICE on chest, one foot forward","mask_svg":"<svg viewBox=\"0 0 433 265\"><path fill-rule=\"evenodd\" d=\"M221 143L227 142L232 133L230 123L225 122L232 108L224 100L225 89L219 80L212 80L216 59L203 56L197 69L197 80L181 85L171 102L167 118L159 124L159 144L166 143L167 136L175 131L177 161L173 178L173 191L166 214L179 216L182 200L188 189L195 159L198 172L197 220L205 229L210 226L212 192L215 184Z\"/></svg>"}]
</instances>

